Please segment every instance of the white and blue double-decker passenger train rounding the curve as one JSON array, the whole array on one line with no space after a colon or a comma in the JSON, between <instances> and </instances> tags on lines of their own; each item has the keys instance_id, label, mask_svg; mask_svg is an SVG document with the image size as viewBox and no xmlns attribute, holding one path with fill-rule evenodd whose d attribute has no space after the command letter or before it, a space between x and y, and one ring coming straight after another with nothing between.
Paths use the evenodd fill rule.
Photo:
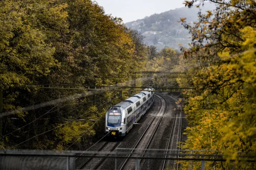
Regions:
<instances>
[{"instance_id":1,"label":"white and blue double-decker passenger train rounding the curve","mask_svg":"<svg viewBox=\"0 0 256 170\"><path fill-rule=\"evenodd\" d=\"M124 137L127 135L147 113L154 100L154 89L149 87L111 107L105 116L106 136Z\"/></svg>"}]
</instances>

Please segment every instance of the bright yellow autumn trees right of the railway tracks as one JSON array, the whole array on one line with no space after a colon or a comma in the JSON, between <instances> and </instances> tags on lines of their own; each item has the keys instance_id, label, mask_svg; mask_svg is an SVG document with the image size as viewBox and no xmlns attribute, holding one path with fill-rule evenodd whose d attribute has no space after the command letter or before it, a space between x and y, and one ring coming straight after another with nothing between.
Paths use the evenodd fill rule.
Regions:
<instances>
[{"instance_id":1,"label":"bright yellow autumn trees right of the railway tracks","mask_svg":"<svg viewBox=\"0 0 256 170\"><path fill-rule=\"evenodd\" d=\"M255 169L243 156L255 158L256 146L256 2L210 0L216 9L198 13L193 25L181 18L192 35L189 49L176 67L197 73L191 80L177 79L180 86L197 88L187 98L189 127L182 149L221 150L232 162L206 162L206 169ZM186 1L186 6L197 0ZM198 1L199 2L199 1ZM197 3L198 3L197 2ZM183 162L187 169L189 162ZM201 163L194 163L200 169Z\"/></svg>"}]
</instances>

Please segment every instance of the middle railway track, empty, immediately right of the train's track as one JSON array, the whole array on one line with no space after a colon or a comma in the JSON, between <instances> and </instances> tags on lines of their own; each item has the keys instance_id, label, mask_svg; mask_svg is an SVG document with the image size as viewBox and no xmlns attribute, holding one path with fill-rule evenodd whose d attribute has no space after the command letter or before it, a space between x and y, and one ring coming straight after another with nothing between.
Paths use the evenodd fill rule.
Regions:
<instances>
[{"instance_id":1,"label":"middle railway track, empty, immediately right of the train's track","mask_svg":"<svg viewBox=\"0 0 256 170\"><path fill-rule=\"evenodd\" d=\"M160 99L159 95L155 95L157 98ZM167 109L167 101L165 100L165 98L161 97L162 100L160 99L160 107L157 110L157 113L154 115L154 117L152 118L151 122L149 123L148 127L145 129L144 133L142 134L142 136L140 137L140 139L138 140L138 142L136 143L136 145L134 146L134 148L132 149L131 153L134 152L134 150L136 148L139 149L143 149L145 153L146 149L148 148L148 146L150 145L152 138L155 135L155 132L158 129L158 126L161 123L161 120L164 117L164 114L166 112ZM162 108L163 102L165 102L165 107ZM131 154L129 154L128 158L131 156ZM143 157L143 154L142 156ZM120 170L130 170L130 169L135 169L135 160L133 159L126 159L124 163L121 164ZM141 162L141 159L140 159Z\"/></svg>"}]
</instances>

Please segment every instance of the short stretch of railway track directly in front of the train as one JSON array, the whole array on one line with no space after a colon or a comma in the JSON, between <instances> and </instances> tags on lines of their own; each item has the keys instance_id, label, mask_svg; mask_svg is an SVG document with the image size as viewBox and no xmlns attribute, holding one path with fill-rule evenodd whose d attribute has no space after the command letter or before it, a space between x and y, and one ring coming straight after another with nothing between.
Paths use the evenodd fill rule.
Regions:
<instances>
[{"instance_id":1,"label":"short stretch of railway track directly in front of the train","mask_svg":"<svg viewBox=\"0 0 256 170\"><path fill-rule=\"evenodd\" d=\"M96 151L105 151L105 152L112 152L120 142L105 142L98 150ZM109 153L105 155L100 154L93 154L92 156L108 156ZM104 162L106 158L99 158L99 157L90 157L86 160L78 169L79 170L94 170L98 169L98 167Z\"/></svg>"}]
</instances>

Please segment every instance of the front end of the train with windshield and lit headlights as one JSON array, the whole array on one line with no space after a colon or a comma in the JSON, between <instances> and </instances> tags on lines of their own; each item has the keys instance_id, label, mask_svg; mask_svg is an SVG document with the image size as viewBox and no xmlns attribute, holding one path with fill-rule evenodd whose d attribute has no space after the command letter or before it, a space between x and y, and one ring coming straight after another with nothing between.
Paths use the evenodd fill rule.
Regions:
<instances>
[{"instance_id":1,"label":"front end of the train with windshield and lit headlights","mask_svg":"<svg viewBox=\"0 0 256 170\"><path fill-rule=\"evenodd\" d=\"M125 136L125 114L121 107L112 107L105 116L105 133L107 136Z\"/></svg>"}]
</instances>

